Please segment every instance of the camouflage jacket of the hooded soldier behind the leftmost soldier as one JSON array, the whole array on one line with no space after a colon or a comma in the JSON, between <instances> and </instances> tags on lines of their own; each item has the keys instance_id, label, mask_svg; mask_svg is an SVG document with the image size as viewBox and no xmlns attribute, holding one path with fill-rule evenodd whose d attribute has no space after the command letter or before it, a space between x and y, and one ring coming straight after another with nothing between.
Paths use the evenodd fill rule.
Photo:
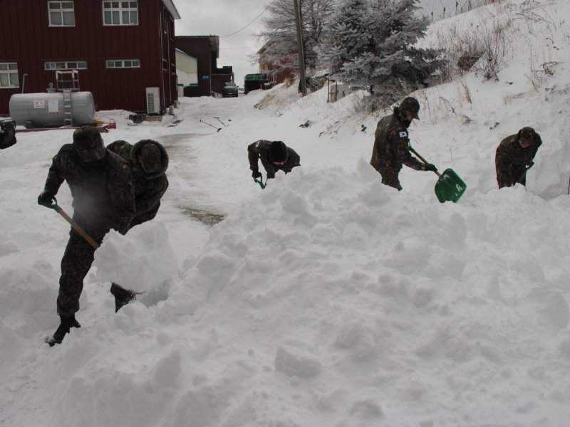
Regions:
<instances>
[{"instance_id":1,"label":"camouflage jacket of the hooded soldier behind the leftmost soldier","mask_svg":"<svg viewBox=\"0 0 570 427\"><path fill-rule=\"evenodd\" d=\"M160 207L160 199L168 188L166 169L168 167L168 155L161 144L156 144L162 152L162 170L153 174L143 171L138 162L138 154L142 144L137 142L131 145L126 141L115 141L107 146L111 152L119 154L120 157L129 162L133 173L133 184L135 185L135 218L131 221L131 226L136 223L143 223L154 218Z\"/></svg>"}]
</instances>

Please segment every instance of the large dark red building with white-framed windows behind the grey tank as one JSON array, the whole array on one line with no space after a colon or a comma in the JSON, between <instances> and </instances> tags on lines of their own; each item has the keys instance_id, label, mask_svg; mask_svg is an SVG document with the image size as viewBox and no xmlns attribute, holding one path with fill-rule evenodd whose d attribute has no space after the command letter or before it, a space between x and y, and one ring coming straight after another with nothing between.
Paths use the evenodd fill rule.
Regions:
<instances>
[{"instance_id":1,"label":"large dark red building with white-framed windows behind the grey tank","mask_svg":"<svg viewBox=\"0 0 570 427\"><path fill-rule=\"evenodd\" d=\"M43 93L78 70L96 110L147 111L177 100L172 0L0 0L0 115L14 93ZM156 89L152 90L156 93Z\"/></svg>"}]
</instances>

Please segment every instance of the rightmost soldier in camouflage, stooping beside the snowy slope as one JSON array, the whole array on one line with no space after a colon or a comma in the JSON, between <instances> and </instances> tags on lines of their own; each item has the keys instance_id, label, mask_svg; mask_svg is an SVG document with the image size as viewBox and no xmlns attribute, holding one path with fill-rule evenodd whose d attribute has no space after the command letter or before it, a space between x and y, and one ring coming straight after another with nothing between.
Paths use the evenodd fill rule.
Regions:
<instances>
[{"instance_id":1,"label":"rightmost soldier in camouflage, stooping beside the snowy slope","mask_svg":"<svg viewBox=\"0 0 570 427\"><path fill-rule=\"evenodd\" d=\"M494 157L499 189L514 184L527 184L527 168L542 144L540 135L532 127L523 127L517 135L501 141Z\"/></svg>"}]
</instances>

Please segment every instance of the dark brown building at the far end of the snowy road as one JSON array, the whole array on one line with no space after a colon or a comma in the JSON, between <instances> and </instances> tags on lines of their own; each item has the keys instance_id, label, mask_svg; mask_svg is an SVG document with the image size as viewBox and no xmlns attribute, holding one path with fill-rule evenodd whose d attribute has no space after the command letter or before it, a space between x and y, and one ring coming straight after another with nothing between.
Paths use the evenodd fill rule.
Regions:
<instances>
[{"instance_id":1,"label":"dark brown building at the far end of the snowy road","mask_svg":"<svg viewBox=\"0 0 570 427\"><path fill-rule=\"evenodd\" d=\"M231 66L218 68L218 36L177 36L176 48L197 58L197 86L184 88L184 96L209 96L222 93L224 83L234 81Z\"/></svg>"}]
</instances>

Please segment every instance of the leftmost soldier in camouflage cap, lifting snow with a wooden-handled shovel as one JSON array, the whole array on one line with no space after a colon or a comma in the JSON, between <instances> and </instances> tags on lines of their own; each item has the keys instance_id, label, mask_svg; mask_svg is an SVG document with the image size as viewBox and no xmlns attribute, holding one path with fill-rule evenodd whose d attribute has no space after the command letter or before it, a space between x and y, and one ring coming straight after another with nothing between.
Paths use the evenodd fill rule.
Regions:
<instances>
[{"instance_id":1,"label":"leftmost soldier in camouflage cap, lifting snow with a wooden-handled shovel","mask_svg":"<svg viewBox=\"0 0 570 427\"><path fill-rule=\"evenodd\" d=\"M84 126L73 133L73 144L65 144L53 157L44 190L38 203L51 203L59 187L67 181L73 196L73 220L94 241L114 228L129 229L135 215L135 190L127 162L103 146L95 127ZM61 343L71 327L80 327L75 318L83 278L87 275L95 248L71 229L66 251L61 259L61 278L57 311L61 318L48 344Z\"/></svg>"}]
</instances>

